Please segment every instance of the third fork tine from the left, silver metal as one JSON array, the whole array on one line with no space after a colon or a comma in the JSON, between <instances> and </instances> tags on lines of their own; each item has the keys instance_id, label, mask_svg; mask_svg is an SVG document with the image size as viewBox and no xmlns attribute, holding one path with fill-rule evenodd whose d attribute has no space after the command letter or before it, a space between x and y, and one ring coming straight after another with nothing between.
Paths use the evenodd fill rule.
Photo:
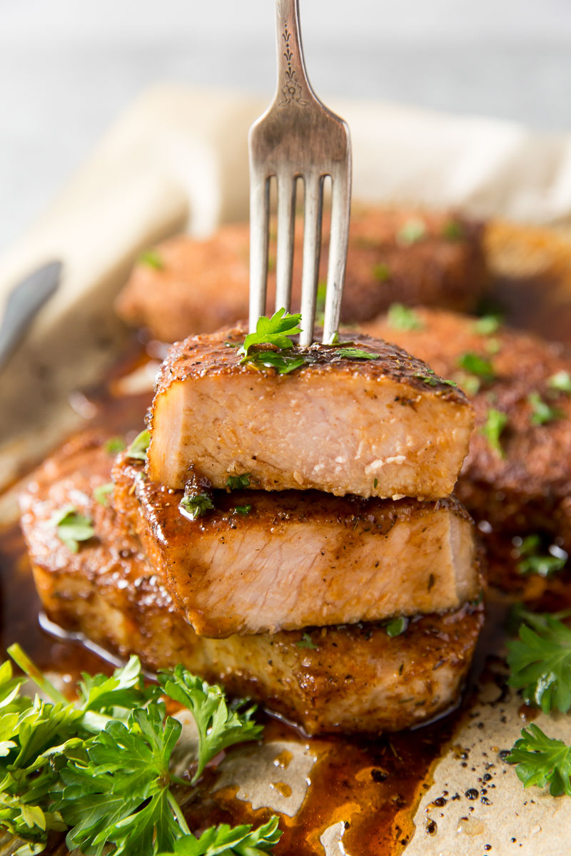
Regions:
<instances>
[{"instance_id":1,"label":"third fork tine from the left, silver metal","mask_svg":"<svg viewBox=\"0 0 571 856\"><path fill-rule=\"evenodd\" d=\"M323 175L305 178L305 205L303 223L303 270L301 273L301 330L300 345L311 345L315 324L319 253L321 250L321 212L323 205Z\"/></svg>"}]
</instances>

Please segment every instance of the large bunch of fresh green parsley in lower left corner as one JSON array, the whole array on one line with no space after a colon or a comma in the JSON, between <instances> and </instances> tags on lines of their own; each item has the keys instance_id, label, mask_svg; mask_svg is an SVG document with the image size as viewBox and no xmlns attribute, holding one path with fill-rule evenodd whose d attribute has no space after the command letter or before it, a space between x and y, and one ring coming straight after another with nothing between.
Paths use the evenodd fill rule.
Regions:
<instances>
[{"instance_id":1,"label":"large bunch of fresh green parsley in lower left corner","mask_svg":"<svg viewBox=\"0 0 571 856\"><path fill-rule=\"evenodd\" d=\"M67 832L69 850L109 856L246 856L269 853L277 843L276 817L255 831L223 825L197 839L172 790L193 788L219 752L259 738L254 705L228 706L220 687L182 666L161 673L159 687L146 687L137 657L110 677L83 675L73 704L18 645L9 654L50 698L21 695L22 679L10 663L0 667L0 826L27 842L25 852L44 850L52 830ZM196 722L192 779L171 769L181 722L167 716L162 695Z\"/></svg>"}]
</instances>

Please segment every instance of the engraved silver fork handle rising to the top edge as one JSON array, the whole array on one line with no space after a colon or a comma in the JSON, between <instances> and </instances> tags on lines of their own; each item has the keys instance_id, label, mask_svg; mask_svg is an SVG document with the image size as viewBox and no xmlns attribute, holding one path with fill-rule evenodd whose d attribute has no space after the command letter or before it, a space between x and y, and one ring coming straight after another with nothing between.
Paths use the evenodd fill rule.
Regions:
<instances>
[{"instance_id":1,"label":"engraved silver fork handle rising to the top edge","mask_svg":"<svg viewBox=\"0 0 571 856\"><path fill-rule=\"evenodd\" d=\"M276 0L276 104L306 107L315 98L307 80L300 33L299 0Z\"/></svg>"}]
</instances>

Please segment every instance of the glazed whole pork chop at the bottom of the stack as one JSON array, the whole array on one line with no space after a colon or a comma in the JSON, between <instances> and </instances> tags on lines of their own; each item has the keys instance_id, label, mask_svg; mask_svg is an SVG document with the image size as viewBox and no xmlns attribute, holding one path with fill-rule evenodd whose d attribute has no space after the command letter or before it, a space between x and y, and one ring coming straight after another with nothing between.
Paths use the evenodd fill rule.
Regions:
<instances>
[{"instance_id":1,"label":"glazed whole pork chop at the bottom of the stack","mask_svg":"<svg viewBox=\"0 0 571 856\"><path fill-rule=\"evenodd\" d=\"M21 497L22 527L45 612L68 631L148 669L182 663L248 695L309 734L395 731L455 704L482 625L481 607L410 621L390 638L378 623L205 639L187 624L139 540L93 490L110 479L97 437L46 461ZM72 552L53 515L73 504L94 536Z\"/></svg>"}]
</instances>

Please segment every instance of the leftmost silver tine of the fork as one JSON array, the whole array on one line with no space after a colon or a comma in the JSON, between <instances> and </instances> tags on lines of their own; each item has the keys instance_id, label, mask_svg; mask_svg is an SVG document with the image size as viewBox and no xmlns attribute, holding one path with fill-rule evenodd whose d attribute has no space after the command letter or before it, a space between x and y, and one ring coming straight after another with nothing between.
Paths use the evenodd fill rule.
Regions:
<instances>
[{"instance_id":1,"label":"leftmost silver tine of the fork","mask_svg":"<svg viewBox=\"0 0 571 856\"><path fill-rule=\"evenodd\" d=\"M268 278L268 230L270 225L270 179L254 175L250 180L250 319L253 333L260 315L265 314Z\"/></svg>"}]
</instances>

